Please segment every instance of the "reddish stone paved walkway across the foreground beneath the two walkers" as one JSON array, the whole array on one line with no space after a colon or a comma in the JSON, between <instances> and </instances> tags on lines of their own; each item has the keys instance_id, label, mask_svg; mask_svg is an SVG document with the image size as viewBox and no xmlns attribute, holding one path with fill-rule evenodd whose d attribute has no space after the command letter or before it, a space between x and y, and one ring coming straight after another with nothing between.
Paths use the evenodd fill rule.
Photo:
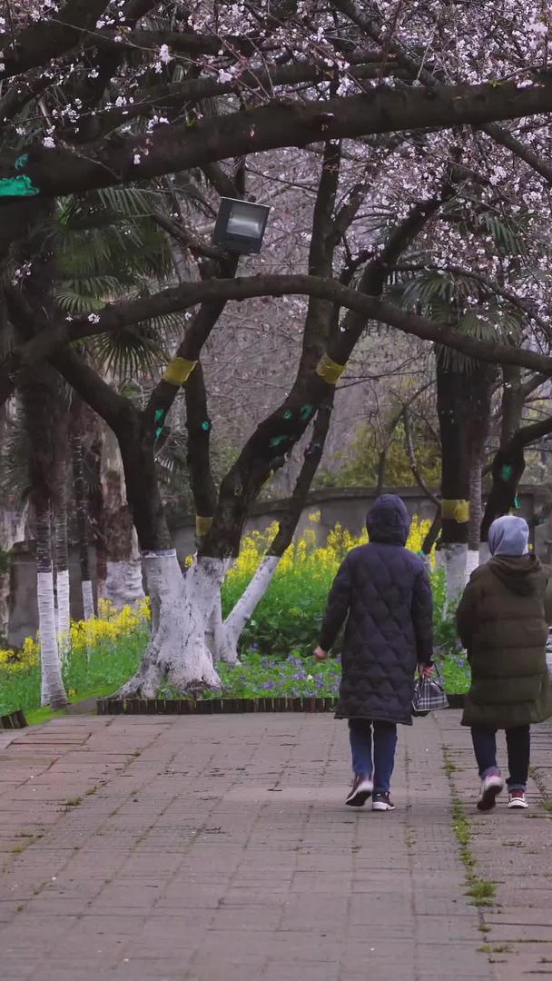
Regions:
<instances>
[{"instance_id":1,"label":"reddish stone paved walkway across the foreground beneath the two walkers","mask_svg":"<svg viewBox=\"0 0 552 981\"><path fill-rule=\"evenodd\" d=\"M14 735L1 981L552 974L550 813L477 815L456 712L401 730L392 814L343 807L346 727L326 715L74 716ZM541 786L551 748L541 729ZM452 827L468 789L477 875L499 881L483 915Z\"/></svg>"}]
</instances>

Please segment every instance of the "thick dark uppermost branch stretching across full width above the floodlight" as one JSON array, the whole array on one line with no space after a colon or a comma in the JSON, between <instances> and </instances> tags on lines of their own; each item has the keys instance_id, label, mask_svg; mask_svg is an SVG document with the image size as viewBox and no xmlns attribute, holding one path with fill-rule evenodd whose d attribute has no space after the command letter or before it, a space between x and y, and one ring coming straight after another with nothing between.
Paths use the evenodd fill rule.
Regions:
<instances>
[{"instance_id":1,"label":"thick dark uppermost branch stretching across full width above the floodlight","mask_svg":"<svg viewBox=\"0 0 552 981\"><path fill-rule=\"evenodd\" d=\"M497 119L552 110L552 75L518 88L512 81L438 88L382 87L370 93L327 101L281 100L276 104L227 113L193 126L160 126L152 134L100 143L82 155L65 148L28 148L25 176L39 194L55 197L160 177L218 160L276 147L305 147L322 139L352 138L376 132L463 124L482 126ZM4 159L1 176L13 176L15 161ZM8 200L4 197L3 200Z\"/></svg>"}]
</instances>

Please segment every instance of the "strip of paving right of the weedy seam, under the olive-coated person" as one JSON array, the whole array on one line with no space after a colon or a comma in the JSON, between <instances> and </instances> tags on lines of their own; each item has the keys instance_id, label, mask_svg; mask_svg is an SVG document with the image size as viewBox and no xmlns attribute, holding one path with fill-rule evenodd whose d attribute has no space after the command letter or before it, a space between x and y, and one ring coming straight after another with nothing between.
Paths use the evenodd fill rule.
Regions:
<instances>
[{"instance_id":1,"label":"strip of paving right of the weedy seam, under the olive-coated person","mask_svg":"<svg viewBox=\"0 0 552 981\"><path fill-rule=\"evenodd\" d=\"M469 844L477 876L495 884L495 898L479 907L481 946L487 949L492 977L552 975L552 726L532 729L529 809L511 811L507 795L494 810L479 814L475 806L478 778L470 732L458 725L455 712L438 713L446 758L454 769L450 781L470 821ZM504 734L498 762L508 775ZM450 767L449 767L450 769Z\"/></svg>"}]
</instances>

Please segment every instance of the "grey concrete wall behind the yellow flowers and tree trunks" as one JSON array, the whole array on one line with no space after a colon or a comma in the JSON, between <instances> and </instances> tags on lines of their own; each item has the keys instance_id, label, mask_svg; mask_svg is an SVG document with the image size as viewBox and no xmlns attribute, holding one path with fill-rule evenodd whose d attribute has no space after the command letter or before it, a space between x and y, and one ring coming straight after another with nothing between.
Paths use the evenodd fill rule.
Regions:
<instances>
[{"instance_id":1,"label":"grey concrete wall behind the yellow flowers and tree trunks","mask_svg":"<svg viewBox=\"0 0 552 981\"><path fill-rule=\"evenodd\" d=\"M432 520L434 505L423 496L417 488L397 489L403 497L411 515L422 519ZM521 493L520 514L530 518L534 509L538 508L545 498L545 491L539 488L524 488ZM309 515L314 511L321 512L319 523L312 525L316 531L319 544L326 542L327 533L339 524L353 535L359 535L365 526L366 513L374 500L374 494L366 490L321 490L309 497L297 529L300 538L309 524ZM246 533L254 529L265 531L272 522L277 521L284 502L264 501L253 509L250 520L246 524ZM183 561L186 555L195 550L194 519L182 521L172 529L173 540L178 558ZM552 538L550 523L547 522L536 529L535 550L544 560L549 559L547 541ZM92 575L95 572L94 549L91 548ZM76 550L70 555L71 603L72 615L75 619L82 616L82 601L80 596L80 577ZM16 545L12 552L11 568L11 610L10 610L10 645L21 645L25 637L34 635L38 627L36 608L36 570L33 548L27 545Z\"/></svg>"}]
</instances>

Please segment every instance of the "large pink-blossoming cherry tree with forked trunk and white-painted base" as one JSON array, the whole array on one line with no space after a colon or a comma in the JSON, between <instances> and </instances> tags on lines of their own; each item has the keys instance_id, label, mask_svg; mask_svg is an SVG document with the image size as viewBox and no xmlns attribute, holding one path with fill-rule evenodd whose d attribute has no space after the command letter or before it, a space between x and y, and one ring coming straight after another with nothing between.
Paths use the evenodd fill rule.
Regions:
<instances>
[{"instance_id":1,"label":"large pink-blossoming cherry tree with forked trunk and white-painted base","mask_svg":"<svg viewBox=\"0 0 552 981\"><path fill-rule=\"evenodd\" d=\"M216 685L205 630L247 514L318 424L371 324L549 377L546 330L535 319L546 324L549 309L548 25L540 4L510 0L477 10L416 3L408 19L386 0L370 15L350 0L203 0L193 10L155 0L11 0L0 26L6 266L52 199L136 185L158 196L152 218L182 260L177 284L69 318L59 305L46 312L28 288L47 255L12 266L10 316L23 339L0 365L0 401L46 359L118 439L155 613L152 644L126 691L153 694L166 675L181 688ZM385 166L371 173L373 157ZM249 193L252 172L269 159L287 181L299 159L316 175L308 272L237 276L235 257L206 240L209 197ZM325 181L333 184L326 197ZM267 187L265 198L273 193ZM180 202L190 196L206 209L206 229L197 213L185 220ZM326 229L317 224L321 201ZM500 235L505 247L497 248ZM319 248L327 236L329 261ZM190 256L200 262L187 279ZM409 278L419 283L430 271L464 284L461 316L436 317L414 297L405 301ZM255 297L309 297L296 373L217 489L201 357L229 303ZM523 312L513 329L497 326L505 310ZM75 342L167 314L181 317L176 357L144 406L75 350ZM203 519L184 582L155 465L181 387Z\"/></svg>"}]
</instances>

